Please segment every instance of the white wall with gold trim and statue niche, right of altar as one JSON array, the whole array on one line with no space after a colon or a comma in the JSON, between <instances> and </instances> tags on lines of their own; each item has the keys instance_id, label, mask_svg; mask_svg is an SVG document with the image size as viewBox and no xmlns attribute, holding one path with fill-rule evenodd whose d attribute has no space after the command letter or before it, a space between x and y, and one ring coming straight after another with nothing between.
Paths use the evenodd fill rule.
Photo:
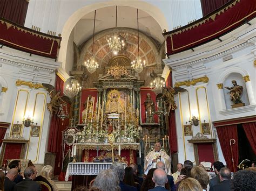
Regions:
<instances>
[{"instance_id":1,"label":"white wall with gold trim and statue niche, right of altar","mask_svg":"<svg viewBox=\"0 0 256 191\"><path fill-rule=\"evenodd\" d=\"M225 163L221 152L216 129L212 122L226 119L256 115L256 19L251 20L252 25L242 25L225 36L222 42L213 40L191 50L184 51L165 59L166 65L173 69L173 83L182 82L207 76L208 82L199 82L196 85L181 86L187 89L187 93L181 93L176 97L178 110L176 112L176 125L178 134L179 162L185 159L194 161L193 145L187 142L192 136L184 137L183 125L188 121L192 113L199 116L200 123L205 120L211 125L211 135L208 138L217 138L219 160ZM225 58L231 58L224 61ZM223 60L224 59L224 60ZM250 76L250 81L242 78ZM231 109L230 97L226 89L219 89L217 84L233 86L231 81L237 80L244 87L242 101L245 107ZM251 101L250 101L251 100ZM182 112L181 112L182 110ZM193 136L201 132L201 126L194 126Z\"/></svg>"}]
</instances>

